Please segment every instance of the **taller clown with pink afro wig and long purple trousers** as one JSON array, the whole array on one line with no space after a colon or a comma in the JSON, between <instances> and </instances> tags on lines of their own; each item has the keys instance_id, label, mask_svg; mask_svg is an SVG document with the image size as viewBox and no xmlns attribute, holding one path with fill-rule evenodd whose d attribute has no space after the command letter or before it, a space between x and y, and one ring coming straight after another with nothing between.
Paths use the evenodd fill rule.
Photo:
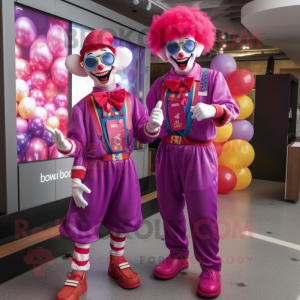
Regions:
<instances>
[{"instance_id":1,"label":"taller clown with pink afro wig and long purple trousers","mask_svg":"<svg viewBox=\"0 0 300 300\"><path fill-rule=\"evenodd\" d=\"M234 120L232 101L221 73L195 63L215 42L216 29L199 8L177 6L155 16L148 33L150 51L173 67L147 95L149 112L162 100L164 122L156 156L158 204L170 255L154 270L169 279L188 267L187 205L194 253L202 273L198 293L221 292L217 226L218 159L212 143L216 126Z\"/></svg>"}]
</instances>

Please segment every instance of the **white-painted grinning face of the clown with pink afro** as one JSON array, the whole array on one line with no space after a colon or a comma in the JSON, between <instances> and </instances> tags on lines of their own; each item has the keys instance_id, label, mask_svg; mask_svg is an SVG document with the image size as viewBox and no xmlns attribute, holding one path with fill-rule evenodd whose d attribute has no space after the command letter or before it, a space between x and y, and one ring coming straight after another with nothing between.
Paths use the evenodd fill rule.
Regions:
<instances>
[{"instance_id":1,"label":"white-painted grinning face of the clown with pink afro","mask_svg":"<svg viewBox=\"0 0 300 300\"><path fill-rule=\"evenodd\" d=\"M185 37L185 38L177 39L174 41L177 42L178 44L180 44L186 40L193 40L195 42L195 39L192 37ZM180 46L181 46L180 50L175 54L170 54L167 51L167 49L165 49L166 56L168 58L168 61L174 66L175 72L178 75L187 75L194 66L194 61L196 59L197 43L196 43L195 49L192 53L186 52L183 49L182 44L180 44Z\"/></svg>"}]
</instances>

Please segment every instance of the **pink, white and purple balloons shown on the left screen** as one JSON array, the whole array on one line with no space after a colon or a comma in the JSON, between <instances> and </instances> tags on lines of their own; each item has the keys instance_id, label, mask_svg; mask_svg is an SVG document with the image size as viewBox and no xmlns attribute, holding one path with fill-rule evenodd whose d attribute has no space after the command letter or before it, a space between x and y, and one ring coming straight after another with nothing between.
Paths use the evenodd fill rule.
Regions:
<instances>
[{"instance_id":1,"label":"pink, white and purple balloons shown on the left screen","mask_svg":"<svg viewBox=\"0 0 300 300\"><path fill-rule=\"evenodd\" d=\"M28 16L15 21L18 162L63 157L45 127L66 136L68 125L68 23Z\"/></svg>"}]
</instances>

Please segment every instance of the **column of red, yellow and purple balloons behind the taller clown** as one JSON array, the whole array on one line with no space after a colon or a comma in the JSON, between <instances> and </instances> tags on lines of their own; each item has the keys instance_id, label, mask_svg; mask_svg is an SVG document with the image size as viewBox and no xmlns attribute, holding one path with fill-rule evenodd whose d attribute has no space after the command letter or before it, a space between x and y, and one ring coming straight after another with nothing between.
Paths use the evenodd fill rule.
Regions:
<instances>
[{"instance_id":1,"label":"column of red, yellow and purple balloons behind the taller clown","mask_svg":"<svg viewBox=\"0 0 300 300\"><path fill-rule=\"evenodd\" d=\"M254 130L245 120L253 112L253 102L247 96L254 88L255 79L251 72L238 69L236 61L228 54L219 54L211 64L225 77L233 101L239 106L237 120L223 127L217 127L214 145L219 157L218 191L228 193L243 190L252 181L248 166L254 160L254 149L249 144Z\"/></svg>"}]
</instances>

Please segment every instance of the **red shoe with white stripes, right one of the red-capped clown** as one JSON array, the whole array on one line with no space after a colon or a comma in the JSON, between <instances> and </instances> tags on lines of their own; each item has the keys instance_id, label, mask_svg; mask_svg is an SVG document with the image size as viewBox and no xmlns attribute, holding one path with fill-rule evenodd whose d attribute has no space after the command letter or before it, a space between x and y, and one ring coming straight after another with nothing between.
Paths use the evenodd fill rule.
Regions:
<instances>
[{"instance_id":1,"label":"red shoe with white stripes, right one of the red-capped clown","mask_svg":"<svg viewBox=\"0 0 300 300\"><path fill-rule=\"evenodd\" d=\"M132 271L124 256L110 256L108 275L124 289L133 289L141 285L139 275Z\"/></svg>"}]
</instances>

